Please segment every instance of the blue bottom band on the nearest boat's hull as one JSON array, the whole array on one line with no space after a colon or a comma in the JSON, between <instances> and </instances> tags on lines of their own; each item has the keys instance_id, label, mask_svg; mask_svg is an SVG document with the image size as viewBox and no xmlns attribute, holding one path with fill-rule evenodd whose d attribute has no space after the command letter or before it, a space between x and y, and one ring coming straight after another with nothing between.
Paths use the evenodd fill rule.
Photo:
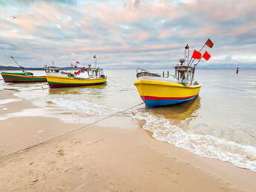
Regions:
<instances>
[{"instance_id":1,"label":"blue bottom band on the nearest boat's hull","mask_svg":"<svg viewBox=\"0 0 256 192\"><path fill-rule=\"evenodd\" d=\"M147 109L151 109L151 108L155 108L155 107L159 107L159 106L172 106L172 105L176 105L178 103L183 103L185 101L188 100L193 100L194 98L196 98L197 95L195 97L191 97L188 99L175 99L175 100L144 100L144 103L147 106Z\"/></svg>"}]
</instances>

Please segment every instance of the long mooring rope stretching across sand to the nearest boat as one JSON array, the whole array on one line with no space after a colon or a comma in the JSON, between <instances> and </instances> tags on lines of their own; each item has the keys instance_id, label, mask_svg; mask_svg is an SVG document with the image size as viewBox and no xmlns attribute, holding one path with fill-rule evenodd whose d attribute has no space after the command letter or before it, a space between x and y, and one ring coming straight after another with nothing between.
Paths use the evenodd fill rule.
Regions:
<instances>
[{"instance_id":1,"label":"long mooring rope stretching across sand to the nearest boat","mask_svg":"<svg viewBox=\"0 0 256 192\"><path fill-rule=\"evenodd\" d=\"M39 142L39 143L37 143L37 144L33 144L33 145L29 146L29 147L25 147L25 148L23 148L23 149L13 151L12 153L7 153L7 154L4 155L4 156L0 156L0 159L4 159L4 158L7 157L7 156L13 155L13 154L15 154L15 153L19 153L19 152L21 152L21 151L23 151L23 150L29 150L29 149L31 149L32 147L36 147L36 146L39 146L39 145L41 145L41 144L46 144L46 143L48 143L48 142L51 141L51 140L54 140L54 139L56 139L56 138L60 138L60 137L62 137L62 136L64 136L64 135L68 135L68 134L70 134L71 132L76 132L77 130L84 129L84 128L86 128L86 127L91 126L92 124L97 124L98 122L103 121L103 120L106 120L107 118L112 118L112 117L114 117L115 115L119 115L119 114L121 114L121 113L123 113L123 112L128 111L129 109L135 108L136 106L140 106L140 105L143 104L143 103L144 103L144 102L139 103L139 104L137 104L137 105L135 105L135 106L131 106L131 107L127 108L127 109L124 109L124 110L121 111L121 112L117 112L117 113L115 113L115 114L109 115L109 116L107 116L106 118L102 118L102 119L100 119L100 120L97 120L97 121L95 121L95 122L92 122L91 124L87 124L87 125L85 125L85 126L83 126L83 127L79 127L79 128L77 128L77 129L73 129L73 130L68 131L68 132L65 132L65 133L63 133L63 134L61 134L61 135L57 135L57 136L55 136L55 137L53 137L53 138L48 138L48 139L45 140L45 141Z\"/></svg>"}]
</instances>

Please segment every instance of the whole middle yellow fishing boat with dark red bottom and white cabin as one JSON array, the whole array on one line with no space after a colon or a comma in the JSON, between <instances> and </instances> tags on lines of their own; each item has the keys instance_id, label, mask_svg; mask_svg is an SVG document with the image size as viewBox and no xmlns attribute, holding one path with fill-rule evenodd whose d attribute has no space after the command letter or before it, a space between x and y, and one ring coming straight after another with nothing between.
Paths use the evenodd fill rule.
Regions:
<instances>
[{"instance_id":1,"label":"whole middle yellow fishing boat with dark red bottom and white cabin","mask_svg":"<svg viewBox=\"0 0 256 192\"><path fill-rule=\"evenodd\" d=\"M96 56L94 58L96 59ZM95 86L106 83L103 68L97 67L96 62L93 67L89 64L87 68L83 67L74 73L62 71L60 74L46 74L46 79L50 88Z\"/></svg>"}]
</instances>

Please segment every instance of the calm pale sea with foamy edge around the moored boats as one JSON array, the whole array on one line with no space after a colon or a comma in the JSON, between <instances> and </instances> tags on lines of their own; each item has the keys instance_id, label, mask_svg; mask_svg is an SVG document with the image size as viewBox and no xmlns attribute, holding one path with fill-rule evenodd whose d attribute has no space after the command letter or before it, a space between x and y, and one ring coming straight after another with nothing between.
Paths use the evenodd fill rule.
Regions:
<instances>
[{"instance_id":1,"label":"calm pale sea with foamy edge around the moored boats","mask_svg":"<svg viewBox=\"0 0 256 192\"><path fill-rule=\"evenodd\" d=\"M88 123L88 119L95 121L114 114L132 118L144 122L143 129L153 133L152 139L256 172L256 71L240 70L236 74L235 70L197 70L195 80L202 83L199 97L155 109L147 109L144 103L137 106L142 100L133 85L137 80L135 70L106 70L105 74L107 83L101 86L49 89L48 83L0 80L0 89L16 89L16 96L39 106L52 103L72 114L65 121ZM1 100L0 108L12 101ZM136 107L129 109L132 106ZM17 115L46 114L24 111L1 117L0 121Z\"/></svg>"}]
</instances>

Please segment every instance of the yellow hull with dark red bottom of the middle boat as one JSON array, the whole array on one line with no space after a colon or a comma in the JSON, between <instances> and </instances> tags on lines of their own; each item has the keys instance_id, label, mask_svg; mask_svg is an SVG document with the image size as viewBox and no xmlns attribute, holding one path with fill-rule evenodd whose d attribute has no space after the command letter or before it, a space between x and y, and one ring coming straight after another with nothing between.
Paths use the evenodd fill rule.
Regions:
<instances>
[{"instance_id":1,"label":"yellow hull with dark red bottom of the middle boat","mask_svg":"<svg viewBox=\"0 0 256 192\"><path fill-rule=\"evenodd\" d=\"M46 79L50 88L95 86L106 83L106 77L97 79L83 79L76 77L60 77L55 75L46 75Z\"/></svg>"}]
</instances>

